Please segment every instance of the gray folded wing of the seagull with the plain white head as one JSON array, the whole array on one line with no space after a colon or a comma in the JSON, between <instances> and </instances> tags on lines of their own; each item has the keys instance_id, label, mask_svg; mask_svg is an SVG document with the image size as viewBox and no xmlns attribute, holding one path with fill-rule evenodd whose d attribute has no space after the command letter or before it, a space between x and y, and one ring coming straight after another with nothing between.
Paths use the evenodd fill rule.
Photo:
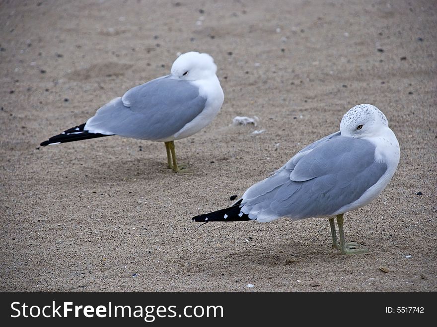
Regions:
<instances>
[{"instance_id":1,"label":"gray folded wing of the seagull with the plain white head","mask_svg":"<svg viewBox=\"0 0 437 327\"><path fill-rule=\"evenodd\" d=\"M138 85L97 110L91 132L159 140L180 131L205 108L206 98L188 81L164 76Z\"/></svg>"}]
</instances>

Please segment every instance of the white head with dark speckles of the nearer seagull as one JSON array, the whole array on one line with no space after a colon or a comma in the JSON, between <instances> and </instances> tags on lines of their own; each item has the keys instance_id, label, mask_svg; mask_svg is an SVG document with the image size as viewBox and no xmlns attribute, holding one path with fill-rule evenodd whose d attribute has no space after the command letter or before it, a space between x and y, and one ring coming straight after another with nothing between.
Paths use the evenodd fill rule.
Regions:
<instances>
[{"instance_id":1,"label":"white head with dark speckles of the nearer seagull","mask_svg":"<svg viewBox=\"0 0 437 327\"><path fill-rule=\"evenodd\" d=\"M343 116L340 131L344 136L376 136L388 128L385 115L375 106L361 104L355 106Z\"/></svg>"}]
</instances>

